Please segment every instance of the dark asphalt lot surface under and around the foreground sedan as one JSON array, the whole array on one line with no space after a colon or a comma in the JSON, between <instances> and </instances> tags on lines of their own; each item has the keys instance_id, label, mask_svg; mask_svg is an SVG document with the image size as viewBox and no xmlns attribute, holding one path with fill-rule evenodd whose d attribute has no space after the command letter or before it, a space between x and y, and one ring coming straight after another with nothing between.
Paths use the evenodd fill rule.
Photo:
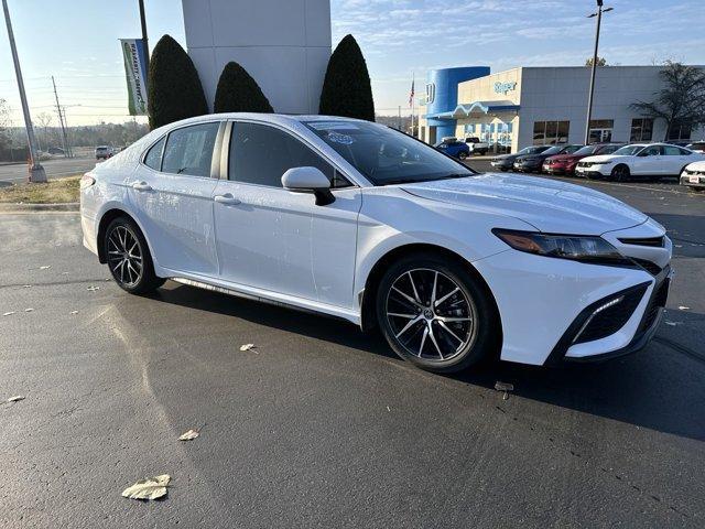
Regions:
<instances>
[{"instance_id":1,"label":"dark asphalt lot surface under and around the foreground sedan","mask_svg":"<svg viewBox=\"0 0 705 529\"><path fill-rule=\"evenodd\" d=\"M583 184L669 228L657 338L452 377L336 320L131 296L78 215L0 215L0 400L25 397L0 404L0 527L705 527L705 195ZM159 474L165 500L120 496Z\"/></svg>"}]
</instances>

